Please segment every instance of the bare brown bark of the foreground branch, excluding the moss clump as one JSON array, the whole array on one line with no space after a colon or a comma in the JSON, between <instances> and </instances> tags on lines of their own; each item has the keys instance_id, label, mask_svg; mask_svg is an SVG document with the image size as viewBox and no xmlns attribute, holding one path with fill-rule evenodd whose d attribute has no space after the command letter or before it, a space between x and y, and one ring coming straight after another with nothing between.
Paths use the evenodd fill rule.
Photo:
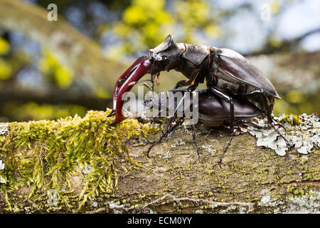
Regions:
<instances>
[{"instance_id":1,"label":"bare brown bark of the foreground branch, excluding the moss clump","mask_svg":"<svg viewBox=\"0 0 320 228\"><path fill-rule=\"evenodd\" d=\"M40 122L33 122L37 123ZM26 123L16 123L14 128L18 129L17 126L23 124ZM78 126L69 128L72 131ZM120 127L116 126L114 132L117 128ZM156 139L160 135L161 132L153 133L148 139ZM48 199L41 198L40 202L38 199L28 199L26 196L31 186L24 185L9 194L11 209L16 212L87 213L319 212L319 148L313 149L308 155L302 156L297 150L292 150L281 157L274 150L257 147L252 135L242 133L233 138L219 167L215 164L229 140L226 128L196 125L200 162L195 162L196 151L188 126L179 128L168 142L156 145L150 152L150 158L144 154L150 144L143 139L130 138L123 143L127 144L131 157L139 165L132 165L123 157L118 157L119 165L126 167L127 172L116 168L117 186L112 192L100 193L78 210L77 207L66 209L58 205L49 207L46 204ZM31 143L28 150L36 150L34 145ZM10 161L5 159L5 155L9 152L0 150L1 153L4 164L8 164ZM10 153L18 156L21 150ZM83 178L84 174L79 172L69 178L76 195L84 187ZM41 192L35 194L41 195ZM0 211L6 212L9 210L6 192L1 192L0 197ZM41 200L44 203L40 207ZM80 199L75 199L75 202L79 203Z\"/></svg>"}]
</instances>

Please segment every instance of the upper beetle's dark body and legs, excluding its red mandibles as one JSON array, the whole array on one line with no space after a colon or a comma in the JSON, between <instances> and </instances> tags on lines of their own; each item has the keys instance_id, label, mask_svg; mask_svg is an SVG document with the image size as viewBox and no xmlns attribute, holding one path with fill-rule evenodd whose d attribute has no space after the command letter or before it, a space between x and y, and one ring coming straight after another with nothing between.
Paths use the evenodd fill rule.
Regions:
<instances>
[{"instance_id":1,"label":"upper beetle's dark body and legs, excluding its red mandibles","mask_svg":"<svg viewBox=\"0 0 320 228\"><path fill-rule=\"evenodd\" d=\"M149 50L153 61L151 74L160 71L179 71L188 78L176 83L174 91L193 91L199 83L206 84L212 93L228 101L230 105L230 130L233 131L234 99L244 98L254 103L267 116L270 126L274 127L272 111L274 98L280 99L277 90L264 73L253 66L240 53L228 48L215 48L198 44L175 43L171 35ZM179 87L188 86L186 89ZM289 142L284 138L287 147Z\"/></svg>"}]
</instances>

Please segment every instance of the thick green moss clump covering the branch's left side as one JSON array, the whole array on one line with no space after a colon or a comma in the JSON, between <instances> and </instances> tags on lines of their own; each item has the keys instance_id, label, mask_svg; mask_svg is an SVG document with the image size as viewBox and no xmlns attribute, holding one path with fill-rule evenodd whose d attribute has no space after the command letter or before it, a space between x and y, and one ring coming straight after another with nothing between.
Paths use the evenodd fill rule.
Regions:
<instances>
[{"instance_id":1,"label":"thick green moss clump covering the branch's left side","mask_svg":"<svg viewBox=\"0 0 320 228\"><path fill-rule=\"evenodd\" d=\"M40 200L44 203L39 208L48 208L48 197L52 197L48 192L54 190L60 207L80 209L88 199L112 192L117 170L127 170L119 157L137 169L139 164L129 155L126 142L140 135L146 137L157 128L133 119L110 126L112 118L106 118L109 112L10 123L9 133L0 138L0 159L5 162L0 175L7 179L0 185L0 194L5 194L7 207L14 210L8 195L25 187L33 201L46 197Z\"/></svg>"}]
</instances>

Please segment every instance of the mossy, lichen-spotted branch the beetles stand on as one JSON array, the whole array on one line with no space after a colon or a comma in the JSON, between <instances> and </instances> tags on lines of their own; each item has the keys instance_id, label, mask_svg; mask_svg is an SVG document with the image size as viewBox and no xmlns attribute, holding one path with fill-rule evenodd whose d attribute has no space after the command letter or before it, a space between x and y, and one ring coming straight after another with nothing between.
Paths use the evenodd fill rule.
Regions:
<instances>
[{"instance_id":1,"label":"mossy, lichen-spotted branch the beetles stand on","mask_svg":"<svg viewBox=\"0 0 320 228\"><path fill-rule=\"evenodd\" d=\"M141 135L161 131L134 119L111 127L108 112L0 128L0 211L319 212L318 147L281 157L242 133L219 168L228 129L197 125L201 162L188 126L147 158Z\"/></svg>"}]
</instances>

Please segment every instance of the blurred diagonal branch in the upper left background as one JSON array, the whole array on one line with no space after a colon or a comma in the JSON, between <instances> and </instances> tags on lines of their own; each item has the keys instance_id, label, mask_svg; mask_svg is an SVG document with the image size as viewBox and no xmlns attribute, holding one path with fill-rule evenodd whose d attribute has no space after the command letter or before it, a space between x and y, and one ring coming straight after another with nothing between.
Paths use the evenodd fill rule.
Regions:
<instances>
[{"instance_id":1,"label":"blurred diagonal branch in the upper left background","mask_svg":"<svg viewBox=\"0 0 320 228\"><path fill-rule=\"evenodd\" d=\"M117 72L119 67L124 66L121 63L107 61L102 56L99 46L90 41L90 38L82 36L62 18L58 21L48 21L47 14L48 11L33 4L0 1L1 28L23 33L38 42L41 48L49 48L60 63L73 70L75 77L82 78L81 83L90 80L88 83L94 83L92 86L103 85L112 90L113 86L105 82L105 72Z\"/></svg>"}]
</instances>

